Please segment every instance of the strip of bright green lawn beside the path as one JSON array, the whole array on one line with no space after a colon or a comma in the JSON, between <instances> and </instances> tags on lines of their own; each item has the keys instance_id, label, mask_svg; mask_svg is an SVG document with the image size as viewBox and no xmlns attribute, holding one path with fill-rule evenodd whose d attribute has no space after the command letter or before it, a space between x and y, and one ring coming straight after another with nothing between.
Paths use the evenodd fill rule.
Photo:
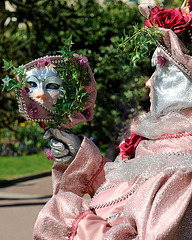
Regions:
<instances>
[{"instance_id":1,"label":"strip of bright green lawn beside the path","mask_svg":"<svg viewBox=\"0 0 192 240\"><path fill-rule=\"evenodd\" d=\"M48 161L44 153L0 157L0 180L10 180L30 174L50 171L53 161Z\"/></svg>"}]
</instances>

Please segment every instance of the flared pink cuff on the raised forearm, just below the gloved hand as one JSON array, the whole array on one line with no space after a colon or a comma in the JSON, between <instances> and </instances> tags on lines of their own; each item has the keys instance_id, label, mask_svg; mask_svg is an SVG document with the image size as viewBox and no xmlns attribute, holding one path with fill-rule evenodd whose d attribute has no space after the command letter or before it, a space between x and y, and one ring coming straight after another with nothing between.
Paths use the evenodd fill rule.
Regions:
<instances>
[{"instance_id":1,"label":"flared pink cuff on the raised forearm, just below the gloved hand","mask_svg":"<svg viewBox=\"0 0 192 240\"><path fill-rule=\"evenodd\" d=\"M78 196L86 193L93 196L105 180L104 165L107 161L109 160L101 156L95 144L84 137L75 159L68 167L54 163L53 194L63 191L73 192Z\"/></svg>"}]
</instances>

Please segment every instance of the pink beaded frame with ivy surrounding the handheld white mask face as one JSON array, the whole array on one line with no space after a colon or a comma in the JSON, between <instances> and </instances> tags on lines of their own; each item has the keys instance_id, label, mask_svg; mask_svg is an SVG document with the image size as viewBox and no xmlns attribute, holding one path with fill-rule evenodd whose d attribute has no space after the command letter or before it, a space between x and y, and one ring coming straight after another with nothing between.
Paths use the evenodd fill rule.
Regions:
<instances>
[{"instance_id":1,"label":"pink beaded frame with ivy surrounding the handheld white mask face","mask_svg":"<svg viewBox=\"0 0 192 240\"><path fill-rule=\"evenodd\" d=\"M96 83L88 64L88 59L64 48L62 55L45 56L35 59L24 66L14 67L12 62L4 60L4 68L11 69L15 78L6 76L3 79L3 90L16 88L19 112L26 118L39 122L40 126L69 129L93 118L93 107L96 100ZM30 96L30 84L25 81L27 72L33 69L55 72L62 80L60 95L50 110ZM50 73L51 74L51 73Z\"/></svg>"}]
</instances>

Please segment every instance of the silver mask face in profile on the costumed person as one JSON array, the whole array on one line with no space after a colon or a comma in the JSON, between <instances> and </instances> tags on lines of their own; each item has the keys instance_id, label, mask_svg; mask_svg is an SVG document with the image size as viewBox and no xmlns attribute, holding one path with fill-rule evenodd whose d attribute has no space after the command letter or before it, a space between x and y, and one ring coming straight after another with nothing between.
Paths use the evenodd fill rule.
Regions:
<instances>
[{"instance_id":1,"label":"silver mask face in profile on the costumed person","mask_svg":"<svg viewBox=\"0 0 192 240\"><path fill-rule=\"evenodd\" d=\"M169 60L163 67L155 65L151 78L151 112L161 116L192 107L192 80Z\"/></svg>"}]
</instances>

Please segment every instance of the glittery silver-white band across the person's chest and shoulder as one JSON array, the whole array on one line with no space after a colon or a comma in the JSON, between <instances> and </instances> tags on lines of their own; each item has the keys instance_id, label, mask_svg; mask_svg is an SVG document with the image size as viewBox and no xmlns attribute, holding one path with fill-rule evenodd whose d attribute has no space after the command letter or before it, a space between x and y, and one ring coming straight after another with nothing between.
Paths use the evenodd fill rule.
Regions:
<instances>
[{"instance_id":1,"label":"glittery silver-white band across the person's chest and shoulder","mask_svg":"<svg viewBox=\"0 0 192 240\"><path fill-rule=\"evenodd\" d=\"M192 171L192 154L167 152L135 158L128 162L113 163L113 168L110 163L105 165L105 171L108 172L106 181L127 181L129 184L134 184L138 177L148 179L155 176L159 171L173 172L177 170Z\"/></svg>"}]
</instances>

